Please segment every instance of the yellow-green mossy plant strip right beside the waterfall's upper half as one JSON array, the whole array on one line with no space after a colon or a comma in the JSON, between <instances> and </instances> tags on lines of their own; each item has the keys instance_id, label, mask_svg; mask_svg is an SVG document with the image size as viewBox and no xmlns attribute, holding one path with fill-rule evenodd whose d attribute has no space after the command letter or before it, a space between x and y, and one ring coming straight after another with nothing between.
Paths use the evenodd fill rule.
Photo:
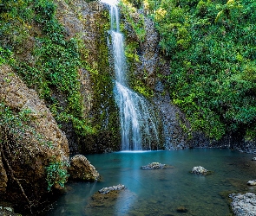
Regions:
<instances>
[{"instance_id":1,"label":"yellow-green mossy plant strip right beside the waterfall's upper half","mask_svg":"<svg viewBox=\"0 0 256 216\"><path fill-rule=\"evenodd\" d=\"M147 38L145 16L136 10L133 3L122 0L119 3L121 10L121 32L125 35L125 55L128 61L128 83L135 91L146 98L152 98L154 91L151 88L146 66L141 62L141 44ZM150 54L147 54L150 55ZM138 69L138 66L141 66ZM144 67L144 68L143 68ZM136 69L138 71L136 71Z\"/></svg>"}]
</instances>

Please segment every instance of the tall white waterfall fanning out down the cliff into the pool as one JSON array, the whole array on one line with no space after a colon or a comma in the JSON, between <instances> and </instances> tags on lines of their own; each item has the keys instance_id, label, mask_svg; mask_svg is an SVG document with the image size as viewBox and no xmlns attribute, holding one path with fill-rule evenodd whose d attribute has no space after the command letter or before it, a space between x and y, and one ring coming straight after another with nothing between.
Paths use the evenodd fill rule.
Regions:
<instances>
[{"instance_id":1,"label":"tall white waterfall fanning out down the cliff into the pool","mask_svg":"<svg viewBox=\"0 0 256 216\"><path fill-rule=\"evenodd\" d=\"M153 106L128 88L123 35L119 27L119 12L115 3L109 4L111 54L115 68L115 102L120 109L121 150L152 149L159 145L158 121Z\"/></svg>"}]
</instances>

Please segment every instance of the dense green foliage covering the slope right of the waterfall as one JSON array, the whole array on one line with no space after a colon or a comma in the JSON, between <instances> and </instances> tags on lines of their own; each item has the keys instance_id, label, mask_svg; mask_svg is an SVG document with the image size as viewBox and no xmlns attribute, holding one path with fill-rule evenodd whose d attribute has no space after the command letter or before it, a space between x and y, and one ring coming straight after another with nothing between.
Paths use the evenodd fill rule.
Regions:
<instances>
[{"instance_id":1,"label":"dense green foliage covering the slope right of the waterfall","mask_svg":"<svg viewBox=\"0 0 256 216\"><path fill-rule=\"evenodd\" d=\"M256 3L129 1L152 17L170 60L167 88L193 130L256 137Z\"/></svg>"}]
</instances>

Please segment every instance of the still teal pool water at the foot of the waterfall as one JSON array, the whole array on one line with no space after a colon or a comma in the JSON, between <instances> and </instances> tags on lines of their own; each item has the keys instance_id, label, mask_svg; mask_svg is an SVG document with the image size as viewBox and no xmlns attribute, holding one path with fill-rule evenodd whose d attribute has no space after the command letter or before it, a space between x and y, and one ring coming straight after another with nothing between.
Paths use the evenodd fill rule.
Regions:
<instances>
[{"instance_id":1,"label":"still teal pool water at the foot of the waterfall","mask_svg":"<svg viewBox=\"0 0 256 216\"><path fill-rule=\"evenodd\" d=\"M228 149L118 152L89 155L102 182L69 183L67 193L48 215L229 215L223 194L255 193L246 182L255 179L253 155ZM172 169L144 170L141 166L161 162ZM203 166L213 175L189 173ZM128 196L108 206L90 207L91 196L102 187L123 184ZM187 213L177 212L183 206Z\"/></svg>"}]
</instances>

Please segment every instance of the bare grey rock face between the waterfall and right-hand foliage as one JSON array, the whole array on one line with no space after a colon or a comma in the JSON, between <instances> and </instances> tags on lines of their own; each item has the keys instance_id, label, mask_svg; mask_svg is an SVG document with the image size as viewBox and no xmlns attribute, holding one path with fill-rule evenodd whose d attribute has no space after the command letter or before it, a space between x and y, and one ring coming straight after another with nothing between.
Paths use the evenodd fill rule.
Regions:
<instances>
[{"instance_id":1,"label":"bare grey rock face between the waterfall and right-hand foliage","mask_svg":"<svg viewBox=\"0 0 256 216\"><path fill-rule=\"evenodd\" d=\"M164 143L163 149L184 149L188 148L187 132L181 128L181 124L189 128L185 115L178 107L171 104L171 99L166 93L164 80L158 78L158 74L163 76L171 73L169 69L170 62L166 60L160 52L159 35L154 29L154 22L144 16L146 36L144 41L136 41L135 32L129 27L127 21L126 30L128 32L127 41L136 41L139 48L135 51L139 60L129 62L129 73L139 79L144 86L154 91L152 104L162 124L161 143ZM162 146L161 146L162 148Z\"/></svg>"}]
</instances>

